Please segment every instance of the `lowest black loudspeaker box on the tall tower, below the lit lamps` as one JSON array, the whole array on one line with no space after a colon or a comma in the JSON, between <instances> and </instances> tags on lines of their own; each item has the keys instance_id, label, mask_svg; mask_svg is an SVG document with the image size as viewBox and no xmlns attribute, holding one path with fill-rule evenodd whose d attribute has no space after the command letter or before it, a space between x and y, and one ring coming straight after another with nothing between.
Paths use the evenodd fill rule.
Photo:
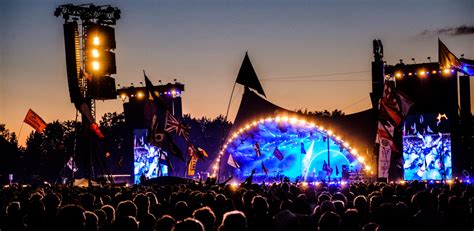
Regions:
<instances>
[{"instance_id":1,"label":"lowest black loudspeaker box on the tall tower, below the lit lamps","mask_svg":"<svg viewBox=\"0 0 474 231\"><path fill-rule=\"evenodd\" d=\"M117 99L115 79L109 76L93 77L88 81L88 95L93 99Z\"/></svg>"}]
</instances>

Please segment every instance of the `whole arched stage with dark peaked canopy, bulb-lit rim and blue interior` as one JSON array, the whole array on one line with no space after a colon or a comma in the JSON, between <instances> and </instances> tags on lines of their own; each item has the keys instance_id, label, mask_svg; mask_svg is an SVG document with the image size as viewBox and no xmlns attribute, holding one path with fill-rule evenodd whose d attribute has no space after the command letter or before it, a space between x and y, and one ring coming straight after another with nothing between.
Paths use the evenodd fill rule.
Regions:
<instances>
[{"instance_id":1,"label":"whole arched stage with dark peaked canopy, bulb-lit rim and blue interior","mask_svg":"<svg viewBox=\"0 0 474 231\"><path fill-rule=\"evenodd\" d=\"M259 169L266 168L268 175L275 172L289 177L318 175L328 159L327 137L332 177L337 177L336 166L339 172L343 165L353 171L367 166L370 169L364 156L373 150L373 121L371 110L339 118L308 117L279 107L245 88L226 145L213 164L213 172L214 175L221 172L221 175L244 177L254 168L257 174ZM260 146L261 156L257 157L255 144ZM281 161L274 155L276 148L284 156ZM227 164L229 154L240 165L239 170Z\"/></svg>"}]
</instances>

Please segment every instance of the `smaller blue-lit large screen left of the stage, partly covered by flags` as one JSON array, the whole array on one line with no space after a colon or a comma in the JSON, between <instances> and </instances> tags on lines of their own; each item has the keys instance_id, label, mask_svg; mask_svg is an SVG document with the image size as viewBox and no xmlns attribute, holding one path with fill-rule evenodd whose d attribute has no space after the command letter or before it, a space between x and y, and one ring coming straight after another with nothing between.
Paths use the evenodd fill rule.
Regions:
<instances>
[{"instance_id":1,"label":"smaller blue-lit large screen left of the stage, partly covered by flags","mask_svg":"<svg viewBox=\"0 0 474 231\"><path fill-rule=\"evenodd\" d=\"M140 183L140 177L146 179L168 175L165 155L160 148L148 143L148 130L135 129L133 131L133 155L134 155L134 183ZM160 155L161 153L161 155ZM160 158L161 156L161 158Z\"/></svg>"}]
</instances>

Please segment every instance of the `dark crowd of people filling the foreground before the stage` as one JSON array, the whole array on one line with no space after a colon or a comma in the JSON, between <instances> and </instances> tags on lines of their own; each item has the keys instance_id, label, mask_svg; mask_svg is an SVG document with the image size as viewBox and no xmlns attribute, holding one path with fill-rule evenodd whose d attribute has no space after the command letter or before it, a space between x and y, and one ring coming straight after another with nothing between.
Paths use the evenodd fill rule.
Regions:
<instances>
[{"instance_id":1,"label":"dark crowd of people filling the foreground before the stage","mask_svg":"<svg viewBox=\"0 0 474 231\"><path fill-rule=\"evenodd\" d=\"M474 187L454 181L244 182L0 189L0 230L473 230Z\"/></svg>"}]
</instances>

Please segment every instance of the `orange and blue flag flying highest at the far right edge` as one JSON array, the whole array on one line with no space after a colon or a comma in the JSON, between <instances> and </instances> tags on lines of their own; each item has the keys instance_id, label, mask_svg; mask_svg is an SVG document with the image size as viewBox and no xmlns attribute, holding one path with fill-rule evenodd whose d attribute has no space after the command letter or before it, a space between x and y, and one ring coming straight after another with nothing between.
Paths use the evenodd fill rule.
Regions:
<instances>
[{"instance_id":1,"label":"orange and blue flag flying highest at the far right edge","mask_svg":"<svg viewBox=\"0 0 474 231\"><path fill-rule=\"evenodd\" d=\"M474 61L458 59L440 39L438 39L438 60L441 69L453 67L466 75L474 75Z\"/></svg>"}]
</instances>

